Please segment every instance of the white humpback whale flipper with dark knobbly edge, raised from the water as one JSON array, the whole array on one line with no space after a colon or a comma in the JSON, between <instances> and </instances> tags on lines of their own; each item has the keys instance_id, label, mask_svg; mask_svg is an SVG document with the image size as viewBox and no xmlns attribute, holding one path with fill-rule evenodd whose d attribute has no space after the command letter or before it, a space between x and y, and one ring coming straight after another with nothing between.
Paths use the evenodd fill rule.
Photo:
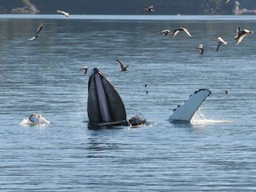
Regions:
<instances>
[{"instance_id":1,"label":"white humpback whale flipper with dark knobbly edge, raised from the water","mask_svg":"<svg viewBox=\"0 0 256 192\"><path fill-rule=\"evenodd\" d=\"M196 110L201 106L204 100L210 96L212 92L209 89L199 89L189 96L189 99L183 105L173 109L173 114L170 116L171 121L190 122L195 115Z\"/></svg>"}]
</instances>

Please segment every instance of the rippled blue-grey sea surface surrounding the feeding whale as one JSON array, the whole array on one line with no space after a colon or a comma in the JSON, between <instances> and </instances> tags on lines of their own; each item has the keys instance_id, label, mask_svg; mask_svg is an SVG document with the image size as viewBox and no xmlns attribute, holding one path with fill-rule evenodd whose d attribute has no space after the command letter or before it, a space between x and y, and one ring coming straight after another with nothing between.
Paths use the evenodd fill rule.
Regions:
<instances>
[{"instance_id":1,"label":"rippled blue-grey sea surface surrounding the feeding whale","mask_svg":"<svg viewBox=\"0 0 256 192\"><path fill-rule=\"evenodd\" d=\"M255 16L0 15L0 26L0 190L256 191L256 39L234 39L256 32ZM159 34L180 27L192 37ZM95 67L148 125L88 128ZM193 121L170 122L200 88L212 94ZM52 124L20 124L31 113Z\"/></svg>"}]
</instances>

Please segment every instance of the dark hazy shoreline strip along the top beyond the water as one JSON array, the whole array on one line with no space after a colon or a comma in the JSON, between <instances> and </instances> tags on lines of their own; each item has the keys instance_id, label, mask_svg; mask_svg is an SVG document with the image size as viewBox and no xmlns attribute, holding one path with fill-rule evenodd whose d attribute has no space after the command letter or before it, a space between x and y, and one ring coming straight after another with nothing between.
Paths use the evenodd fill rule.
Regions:
<instances>
[{"instance_id":1,"label":"dark hazy shoreline strip along the top beyond the water","mask_svg":"<svg viewBox=\"0 0 256 192\"><path fill-rule=\"evenodd\" d=\"M0 13L53 14L57 9L71 14L145 14L143 8L154 5L150 14L233 14L235 0L0 0ZM239 0L252 9L255 0Z\"/></svg>"}]
</instances>

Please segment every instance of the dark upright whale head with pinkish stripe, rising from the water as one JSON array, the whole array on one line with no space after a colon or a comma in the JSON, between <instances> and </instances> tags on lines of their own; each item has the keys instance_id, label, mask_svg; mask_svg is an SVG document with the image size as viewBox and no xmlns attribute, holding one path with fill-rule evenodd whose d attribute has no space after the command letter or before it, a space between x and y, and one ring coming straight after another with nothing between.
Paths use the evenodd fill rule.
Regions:
<instances>
[{"instance_id":1,"label":"dark upright whale head with pinkish stripe, rising from the water","mask_svg":"<svg viewBox=\"0 0 256 192\"><path fill-rule=\"evenodd\" d=\"M88 81L87 114L90 125L127 124L123 100L98 68L93 68Z\"/></svg>"}]
</instances>

